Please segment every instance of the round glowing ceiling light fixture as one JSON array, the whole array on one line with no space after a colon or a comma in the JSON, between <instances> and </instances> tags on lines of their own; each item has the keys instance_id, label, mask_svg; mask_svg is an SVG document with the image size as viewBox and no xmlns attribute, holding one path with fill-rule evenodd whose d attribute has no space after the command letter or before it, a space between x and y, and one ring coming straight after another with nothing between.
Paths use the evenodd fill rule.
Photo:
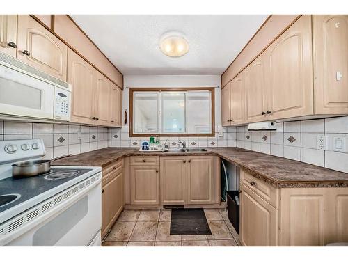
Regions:
<instances>
[{"instance_id":1,"label":"round glowing ceiling light fixture","mask_svg":"<svg viewBox=\"0 0 348 261\"><path fill-rule=\"evenodd\" d=\"M161 51L167 56L179 57L189 52L189 42L184 35L177 32L166 33L159 41Z\"/></svg>"}]
</instances>

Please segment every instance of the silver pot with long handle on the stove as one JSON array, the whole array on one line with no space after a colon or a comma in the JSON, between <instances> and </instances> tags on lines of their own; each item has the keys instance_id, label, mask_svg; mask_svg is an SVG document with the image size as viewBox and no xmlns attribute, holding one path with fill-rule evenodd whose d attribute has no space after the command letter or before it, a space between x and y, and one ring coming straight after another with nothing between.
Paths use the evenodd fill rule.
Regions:
<instances>
[{"instance_id":1,"label":"silver pot with long handle on the stove","mask_svg":"<svg viewBox=\"0 0 348 261\"><path fill-rule=\"evenodd\" d=\"M70 154L71 155L71 154ZM64 155L56 157L52 160L39 159L32 161L22 161L12 165L12 176L13 177L33 177L48 173L51 170L51 162L56 159L68 157L70 155Z\"/></svg>"}]
</instances>

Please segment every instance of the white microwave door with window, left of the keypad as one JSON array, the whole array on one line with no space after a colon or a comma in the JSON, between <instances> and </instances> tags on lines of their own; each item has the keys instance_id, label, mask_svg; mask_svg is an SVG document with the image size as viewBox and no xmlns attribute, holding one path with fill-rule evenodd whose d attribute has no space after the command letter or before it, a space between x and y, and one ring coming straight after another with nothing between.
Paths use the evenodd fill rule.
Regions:
<instances>
[{"instance_id":1,"label":"white microwave door with window, left of the keypad","mask_svg":"<svg viewBox=\"0 0 348 261\"><path fill-rule=\"evenodd\" d=\"M0 113L53 118L54 86L0 65Z\"/></svg>"}]
</instances>

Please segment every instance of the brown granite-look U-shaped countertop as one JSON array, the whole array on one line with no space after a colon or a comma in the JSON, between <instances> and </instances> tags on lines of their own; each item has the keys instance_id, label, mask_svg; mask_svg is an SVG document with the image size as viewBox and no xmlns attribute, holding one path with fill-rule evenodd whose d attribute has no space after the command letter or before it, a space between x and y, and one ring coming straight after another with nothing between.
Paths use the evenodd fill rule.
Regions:
<instances>
[{"instance_id":1,"label":"brown granite-look U-shaped countertop","mask_svg":"<svg viewBox=\"0 0 348 261\"><path fill-rule=\"evenodd\" d=\"M139 152L136 148L104 148L58 159L52 165L104 167L127 156L216 155L278 188L348 187L348 173L242 148L206 149L206 152Z\"/></svg>"}]
</instances>

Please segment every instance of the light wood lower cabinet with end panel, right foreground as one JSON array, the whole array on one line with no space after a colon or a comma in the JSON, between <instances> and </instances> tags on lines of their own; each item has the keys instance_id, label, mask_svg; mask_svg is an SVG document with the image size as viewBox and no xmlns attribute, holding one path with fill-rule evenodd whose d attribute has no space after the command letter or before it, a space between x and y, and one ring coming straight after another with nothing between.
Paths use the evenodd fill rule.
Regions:
<instances>
[{"instance_id":1,"label":"light wood lower cabinet with end panel, right foreground","mask_svg":"<svg viewBox=\"0 0 348 261\"><path fill-rule=\"evenodd\" d=\"M251 180L244 170L241 173L239 231L244 246L348 241L348 188L276 189L258 178Z\"/></svg>"}]
</instances>

